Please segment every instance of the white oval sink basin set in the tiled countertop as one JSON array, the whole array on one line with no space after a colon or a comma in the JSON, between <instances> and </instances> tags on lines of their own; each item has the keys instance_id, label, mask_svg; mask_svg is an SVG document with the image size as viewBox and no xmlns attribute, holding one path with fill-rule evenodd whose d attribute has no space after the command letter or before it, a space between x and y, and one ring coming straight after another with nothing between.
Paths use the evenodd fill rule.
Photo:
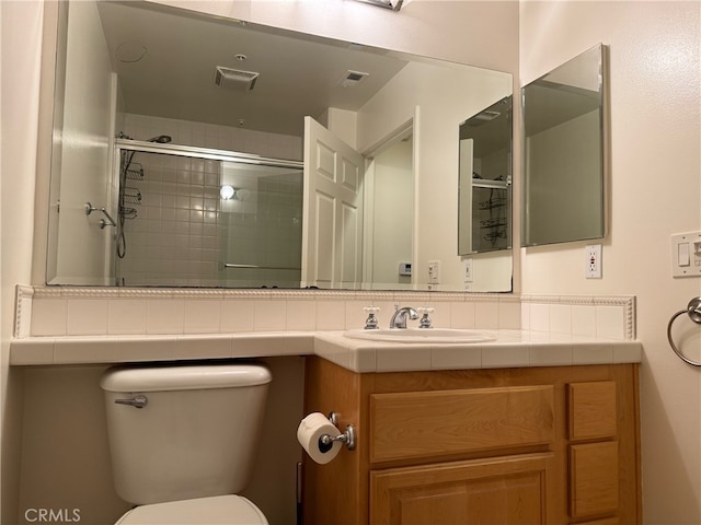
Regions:
<instances>
[{"instance_id":1,"label":"white oval sink basin set in the tiled countertop","mask_svg":"<svg viewBox=\"0 0 701 525\"><path fill-rule=\"evenodd\" d=\"M347 330L345 337L388 342L430 342L430 343L469 343L494 341L496 337L479 330L461 330L453 328L363 328Z\"/></svg>"}]
</instances>

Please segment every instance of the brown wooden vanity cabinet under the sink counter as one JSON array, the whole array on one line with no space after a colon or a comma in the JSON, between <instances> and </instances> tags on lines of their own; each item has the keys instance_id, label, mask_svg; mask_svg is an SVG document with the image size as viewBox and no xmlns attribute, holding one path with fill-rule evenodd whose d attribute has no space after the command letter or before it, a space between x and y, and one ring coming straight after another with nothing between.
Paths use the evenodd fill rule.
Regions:
<instances>
[{"instance_id":1,"label":"brown wooden vanity cabinet under the sink counter","mask_svg":"<svg viewBox=\"0 0 701 525\"><path fill-rule=\"evenodd\" d=\"M641 523L635 364L306 374L357 445L304 455L304 525Z\"/></svg>"}]
</instances>

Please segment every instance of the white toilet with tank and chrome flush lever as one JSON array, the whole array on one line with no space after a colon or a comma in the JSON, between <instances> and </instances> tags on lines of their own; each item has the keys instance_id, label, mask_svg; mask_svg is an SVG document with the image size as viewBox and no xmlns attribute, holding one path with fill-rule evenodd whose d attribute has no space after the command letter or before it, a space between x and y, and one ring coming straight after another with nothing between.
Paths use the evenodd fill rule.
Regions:
<instances>
[{"instance_id":1,"label":"white toilet with tank and chrome flush lever","mask_svg":"<svg viewBox=\"0 0 701 525\"><path fill-rule=\"evenodd\" d=\"M267 524L235 495L252 476L269 371L260 364L115 366L105 394L122 525Z\"/></svg>"}]
</instances>

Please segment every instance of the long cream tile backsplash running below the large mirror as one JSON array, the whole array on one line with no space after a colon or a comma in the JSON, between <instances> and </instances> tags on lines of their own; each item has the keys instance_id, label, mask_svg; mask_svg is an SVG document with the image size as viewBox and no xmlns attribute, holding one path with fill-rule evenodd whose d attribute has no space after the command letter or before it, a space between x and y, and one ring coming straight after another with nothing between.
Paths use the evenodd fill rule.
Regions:
<instances>
[{"instance_id":1,"label":"long cream tile backsplash running below the large mirror","mask_svg":"<svg viewBox=\"0 0 701 525\"><path fill-rule=\"evenodd\" d=\"M634 298L22 285L15 337L345 330L363 327L370 305L388 325L395 304L434 307L438 327L635 338Z\"/></svg>"}]
</instances>

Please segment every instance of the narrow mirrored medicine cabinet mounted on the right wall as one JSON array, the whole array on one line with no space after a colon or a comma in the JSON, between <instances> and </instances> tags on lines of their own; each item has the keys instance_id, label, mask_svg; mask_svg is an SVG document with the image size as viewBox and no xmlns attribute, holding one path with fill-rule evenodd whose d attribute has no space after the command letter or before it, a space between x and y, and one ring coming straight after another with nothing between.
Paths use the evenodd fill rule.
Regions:
<instances>
[{"instance_id":1,"label":"narrow mirrored medicine cabinet mounted on the right wall","mask_svg":"<svg viewBox=\"0 0 701 525\"><path fill-rule=\"evenodd\" d=\"M521 91L524 246L606 234L605 71L598 45Z\"/></svg>"}]
</instances>

